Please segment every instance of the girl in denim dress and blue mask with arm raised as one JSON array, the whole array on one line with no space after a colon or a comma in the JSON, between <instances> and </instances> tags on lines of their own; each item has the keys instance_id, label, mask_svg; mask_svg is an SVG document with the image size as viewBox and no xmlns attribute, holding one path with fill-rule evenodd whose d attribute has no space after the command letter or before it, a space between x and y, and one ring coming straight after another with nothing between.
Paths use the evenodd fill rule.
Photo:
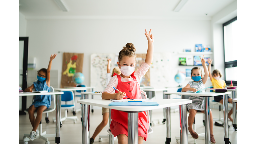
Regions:
<instances>
[{"instance_id":1,"label":"girl in denim dress and blue mask with arm raised","mask_svg":"<svg viewBox=\"0 0 256 144\"><path fill-rule=\"evenodd\" d=\"M26 88L25 92L32 92L32 89L35 91L42 91L47 90L48 92L51 91L50 88L50 71L52 67L52 60L56 57L56 54L51 55L50 62L48 68L42 68L37 72L37 79L38 81L34 82L30 87ZM30 123L33 127L32 131L30 132L29 139L33 141L35 138L39 136L39 130L37 127L42 119L42 113L44 110L51 106L51 95L38 95L35 96L32 105L30 105L28 109L28 115ZM37 110L37 116L34 116L35 110Z\"/></svg>"}]
</instances>

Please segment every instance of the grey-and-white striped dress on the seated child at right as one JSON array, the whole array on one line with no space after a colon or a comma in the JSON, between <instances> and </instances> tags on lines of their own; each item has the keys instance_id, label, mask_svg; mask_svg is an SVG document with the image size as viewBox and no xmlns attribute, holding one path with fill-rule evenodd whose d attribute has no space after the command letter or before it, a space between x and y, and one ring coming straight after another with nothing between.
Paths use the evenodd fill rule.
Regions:
<instances>
[{"instance_id":1,"label":"grey-and-white striped dress on the seated child at right","mask_svg":"<svg viewBox=\"0 0 256 144\"><path fill-rule=\"evenodd\" d=\"M191 88L195 88L197 90L205 88L202 79L199 82L190 81L188 84L190 85ZM205 90L203 90L202 92L205 92ZM188 110L204 110L204 97L189 96L189 99L192 100L192 103L187 104Z\"/></svg>"}]
</instances>

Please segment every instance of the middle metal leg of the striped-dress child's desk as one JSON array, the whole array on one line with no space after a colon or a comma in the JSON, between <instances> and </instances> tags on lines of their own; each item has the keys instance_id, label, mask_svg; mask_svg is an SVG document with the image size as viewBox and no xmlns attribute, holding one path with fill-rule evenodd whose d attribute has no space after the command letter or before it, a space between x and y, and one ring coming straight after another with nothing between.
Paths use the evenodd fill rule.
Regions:
<instances>
[{"instance_id":1,"label":"middle metal leg of the striped-dress child's desk","mask_svg":"<svg viewBox=\"0 0 256 144\"><path fill-rule=\"evenodd\" d=\"M205 144L211 144L210 133L210 101L209 97L205 97L204 102L204 129L205 129Z\"/></svg>"}]
</instances>

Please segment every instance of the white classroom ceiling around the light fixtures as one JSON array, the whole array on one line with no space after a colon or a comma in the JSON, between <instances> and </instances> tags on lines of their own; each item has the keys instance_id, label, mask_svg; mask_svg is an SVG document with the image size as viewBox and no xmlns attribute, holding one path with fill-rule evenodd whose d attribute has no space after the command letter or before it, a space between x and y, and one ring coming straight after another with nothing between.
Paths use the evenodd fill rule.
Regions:
<instances>
[{"instance_id":1,"label":"white classroom ceiling around the light fixtures","mask_svg":"<svg viewBox=\"0 0 256 144\"><path fill-rule=\"evenodd\" d=\"M235 0L188 0L179 12L180 0L63 0L69 11L63 12L53 0L19 0L19 12L25 16L147 16L212 17ZM207 13L207 15L206 15Z\"/></svg>"}]
</instances>

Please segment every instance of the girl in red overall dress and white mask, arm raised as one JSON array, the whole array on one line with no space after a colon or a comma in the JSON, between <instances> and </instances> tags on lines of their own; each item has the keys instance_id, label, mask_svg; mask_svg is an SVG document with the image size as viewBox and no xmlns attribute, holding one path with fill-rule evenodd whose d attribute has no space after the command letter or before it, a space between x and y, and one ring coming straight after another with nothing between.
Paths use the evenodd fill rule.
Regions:
<instances>
[{"instance_id":1,"label":"girl in red overall dress and white mask, arm raised","mask_svg":"<svg viewBox=\"0 0 256 144\"><path fill-rule=\"evenodd\" d=\"M102 93L102 99L116 99L121 100L123 98L131 98L131 99L141 99L140 92L140 79L143 75L148 71L152 60L153 60L153 42L154 36L151 34L151 29L149 33L147 30L145 35L148 40L148 51L146 54L145 62L142 66L134 71L135 67L135 47L132 43L127 43L123 50L119 52L118 56L118 67L120 68L121 74L114 76L110 79L108 86L104 89ZM122 91L115 91L112 94L113 87ZM127 97L125 97L127 96ZM110 130L114 136L117 136L119 144L127 144L128 143L128 113L111 110L111 124ZM143 139L146 141L148 137L148 128L149 121L146 115L146 112L140 112L138 114L138 131L139 131L139 144L143 143Z\"/></svg>"}]
</instances>

